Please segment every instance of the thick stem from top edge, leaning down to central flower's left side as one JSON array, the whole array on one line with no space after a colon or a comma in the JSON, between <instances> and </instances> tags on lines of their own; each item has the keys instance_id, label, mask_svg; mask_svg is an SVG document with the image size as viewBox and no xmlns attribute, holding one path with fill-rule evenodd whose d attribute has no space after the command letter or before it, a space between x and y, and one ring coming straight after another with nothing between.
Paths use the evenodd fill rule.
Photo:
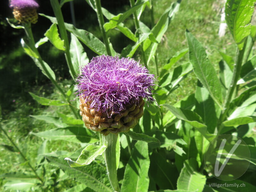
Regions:
<instances>
[{"instance_id":1,"label":"thick stem from top edge, leaning down to central flower's left side","mask_svg":"<svg viewBox=\"0 0 256 192\"><path fill-rule=\"evenodd\" d=\"M77 72L75 71L75 69L72 65L71 56L70 56L70 52L69 52L68 34L67 34L67 30L66 30L66 27L64 24L63 15L62 15L62 12L60 9L60 4L59 4L58 0L50 0L50 1L51 1L54 15L58 21L58 25L59 25L59 29L60 29L60 36L64 40L65 56L66 56L66 60L68 63L68 68L71 72L72 78L75 79Z\"/></svg>"}]
</instances>

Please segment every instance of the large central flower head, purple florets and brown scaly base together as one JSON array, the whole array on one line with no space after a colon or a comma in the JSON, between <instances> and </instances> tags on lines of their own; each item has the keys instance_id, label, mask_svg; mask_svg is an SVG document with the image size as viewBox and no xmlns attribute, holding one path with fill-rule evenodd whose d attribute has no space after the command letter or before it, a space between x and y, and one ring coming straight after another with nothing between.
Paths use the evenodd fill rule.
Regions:
<instances>
[{"instance_id":1,"label":"large central flower head, purple florets and brown scaly base together","mask_svg":"<svg viewBox=\"0 0 256 192\"><path fill-rule=\"evenodd\" d=\"M104 135L128 132L152 97L154 75L133 59L99 56L78 76L80 115L85 126Z\"/></svg>"}]
</instances>

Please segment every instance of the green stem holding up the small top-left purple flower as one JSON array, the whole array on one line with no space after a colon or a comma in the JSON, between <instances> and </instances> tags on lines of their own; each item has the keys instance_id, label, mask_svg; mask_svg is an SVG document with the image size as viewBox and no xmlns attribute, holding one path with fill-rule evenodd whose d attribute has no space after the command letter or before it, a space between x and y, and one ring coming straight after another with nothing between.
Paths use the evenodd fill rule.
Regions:
<instances>
[{"instance_id":1,"label":"green stem holding up the small top-left purple flower","mask_svg":"<svg viewBox=\"0 0 256 192\"><path fill-rule=\"evenodd\" d=\"M75 117L78 119L79 116L77 114L77 111L75 110L74 107L71 106L68 98L66 98L66 94L65 92L61 89L61 87L59 86L59 84L53 79L51 73L48 71L48 69L45 67L44 61L41 58L40 53L38 52L38 50L35 47L35 40L34 40L34 36L31 30L31 24L30 23L24 23L23 24L24 28L25 28L25 32L28 36L28 44L29 47L36 53L36 55L38 56L37 60L40 62L42 68L44 69L46 75L49 77L49 79L51 80L52 84L54 84L54 86L60 91L60 93L62 94L63 98L68 102L70 109L72 110L72 112L74 113Z\"/></svg>"}]
</instances>

